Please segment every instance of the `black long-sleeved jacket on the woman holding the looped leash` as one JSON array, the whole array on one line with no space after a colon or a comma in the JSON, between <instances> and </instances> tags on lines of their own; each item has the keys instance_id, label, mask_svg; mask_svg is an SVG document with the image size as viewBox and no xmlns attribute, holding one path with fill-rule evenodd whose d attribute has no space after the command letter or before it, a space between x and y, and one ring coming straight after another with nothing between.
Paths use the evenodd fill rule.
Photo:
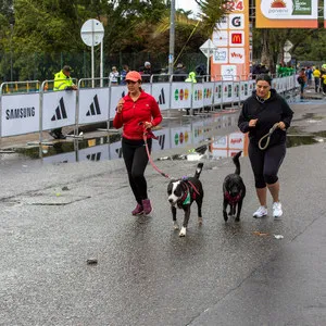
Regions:
<instances>
[{"instance_id":1,"label":"black long-sleeved jacket on the woman holding the looped leash","mask_svg":"<svg viewBox=\"0 0 326 326\"><path fill-rule=\"evenodd\" d=\"M291 124L293 111L286 100L275 89L271 89L269 99L258 98L255 90L244 102L239 115L238 127L242 133L249 131L251 143L258 145L260 139L268 134L275 123L284 122L286 128ZM249 127L249 121L258 118L255 127ZM277 128L271 136L269 146L286 141L286 130Z\"/></svg>"}]
</instances>

